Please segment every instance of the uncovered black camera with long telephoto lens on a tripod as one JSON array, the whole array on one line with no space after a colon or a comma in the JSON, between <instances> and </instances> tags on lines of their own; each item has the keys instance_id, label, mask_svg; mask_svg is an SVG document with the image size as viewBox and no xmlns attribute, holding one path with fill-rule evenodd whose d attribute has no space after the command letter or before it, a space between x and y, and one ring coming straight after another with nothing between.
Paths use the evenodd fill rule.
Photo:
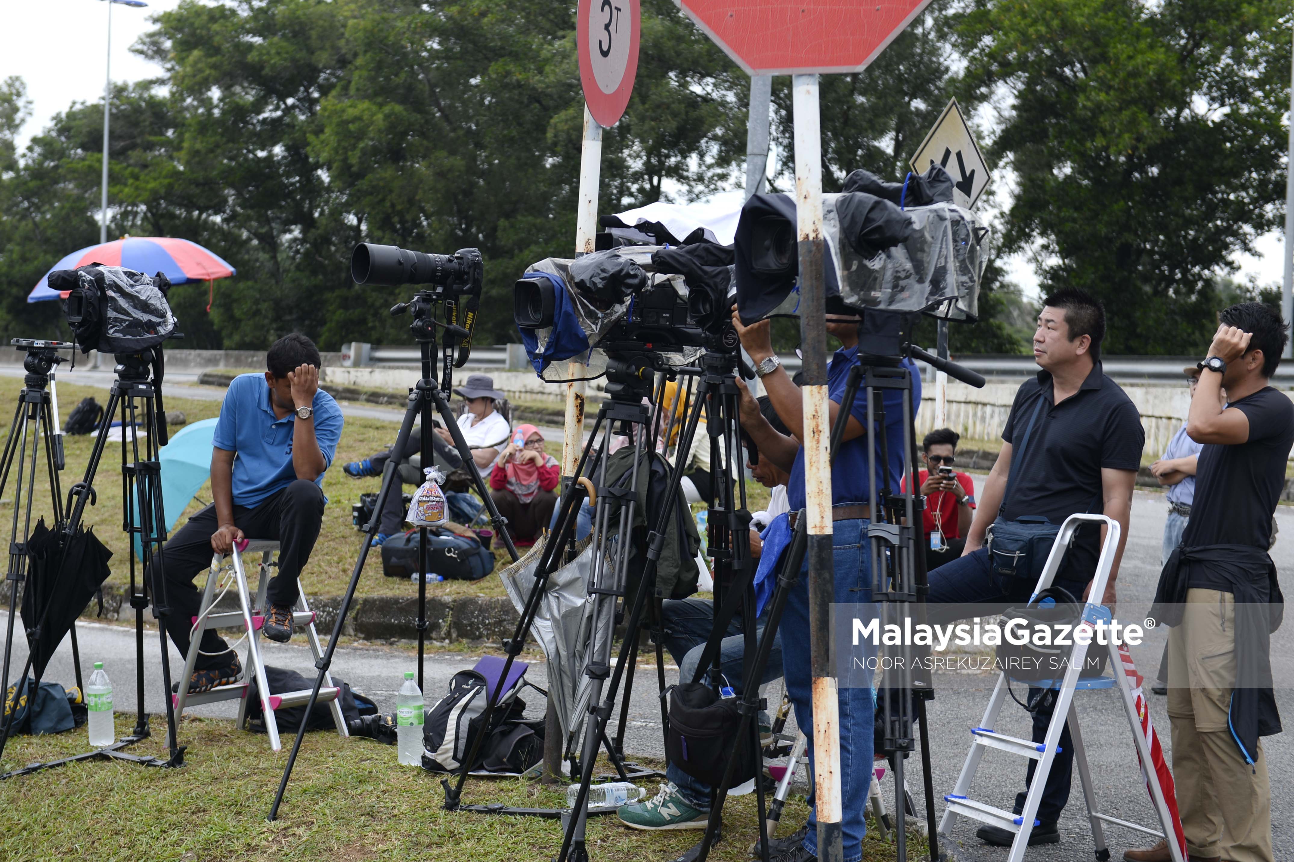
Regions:
<instances>
[{"instance_id":1,"label":"uncovered black camera with long telephoto lens on a tripod","mask_svg":"<svg viewBox=\"0 0 1294 862\"><path fill-rule=\"evenodd\" d=\"M472 350L472 332L481 304L485 268L476 248L459 248L453 255L428 255L399 246L360 243L351 253L351 278L356 284L428 284L411 302L401 302L391 314L413 313L413 332L419 340L432 336L435 326L431 302L445 304L448 348L457 348L454 367L462 368ZM459 297L466 296L466 301ZM462 308L459 308L462 302ZM459 319L462 322L459 322Z\"/></svg>"}]
</instances>

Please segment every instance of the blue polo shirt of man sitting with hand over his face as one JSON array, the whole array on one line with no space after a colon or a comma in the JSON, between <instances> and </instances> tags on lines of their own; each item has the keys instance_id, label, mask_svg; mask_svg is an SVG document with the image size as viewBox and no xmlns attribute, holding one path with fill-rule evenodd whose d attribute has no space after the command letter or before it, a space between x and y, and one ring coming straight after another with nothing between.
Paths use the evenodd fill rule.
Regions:
<instances>
[{"instance_id":1,"label":"blue polo shirt of man sitting with hand over his face","mask_svg":"<svg viewBox=\"0 0 1294 862\"><path fill-rule=\"evenodd\" d=\"M333 463L342 438L342 408L322 389L314 393L314 438L324 452L324 467ZM220 405L220 420L211 441L215 448L237 452L234 457L234 505L255 507L296 479L292 469L292 429L296 414L274 416L269 384L263 373L238 375ZM314 483L324 487L324 474ZM326 498L325 498L326 500Z\"/></svg>"}]
</instances>

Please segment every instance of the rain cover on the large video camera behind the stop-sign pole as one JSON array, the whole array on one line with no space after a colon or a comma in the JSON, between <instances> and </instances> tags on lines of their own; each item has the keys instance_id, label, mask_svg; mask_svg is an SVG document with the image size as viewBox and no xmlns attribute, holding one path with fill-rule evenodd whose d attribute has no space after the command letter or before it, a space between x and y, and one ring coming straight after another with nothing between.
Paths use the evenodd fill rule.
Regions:
<instances>
[{"instance_id":1,"label":"rain cover on the large video camera behind the stop-sign pole","mask_svg":"<svg viewBox=\"0 0 1294 862\"><path fill-rule=\"evenodd\" d=\"M795 244L782 269L757 269L752 257L761 229L779 224L793 238L795 218L789 195L753 195L743 209L736 233L736 296L747 323L800 314ZM842 235L842 225L851 237ZM867 193L828 194L823 195L823 229L828 308L925 311L950 321L977 318L989 231L972 211L951 203L901 209Z\"/></svg>"}]
</instances>

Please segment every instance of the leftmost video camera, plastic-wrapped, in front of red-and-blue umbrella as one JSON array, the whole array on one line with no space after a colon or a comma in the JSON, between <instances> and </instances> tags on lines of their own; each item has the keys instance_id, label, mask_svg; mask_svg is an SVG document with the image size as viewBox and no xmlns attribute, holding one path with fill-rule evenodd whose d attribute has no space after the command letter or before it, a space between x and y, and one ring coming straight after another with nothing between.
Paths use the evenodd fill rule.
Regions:
<instances>
[{"instance_id":1,"label":"leftmost video camera, plastic-wrapped, in front of red-and-blue umbrella","mask_svg":"<svg viewBox=\"0 0 1294 862\"><path fill-rule=\"evenodd\" d=\"M49 287L67 295L65 314L82 353L140 354L177 335L164 273L87 264L54 270Z\"/></svg>"}]
</instances>

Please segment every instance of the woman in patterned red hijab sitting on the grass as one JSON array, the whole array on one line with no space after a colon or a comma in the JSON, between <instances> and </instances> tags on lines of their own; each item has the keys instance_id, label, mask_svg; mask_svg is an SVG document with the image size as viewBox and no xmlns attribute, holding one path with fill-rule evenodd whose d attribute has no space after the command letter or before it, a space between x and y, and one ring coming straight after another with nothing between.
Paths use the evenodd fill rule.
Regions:
<instances>
[{"instance_id":1,"label":"woman in patterned red hijab sitting on the grass","mask_svg":"<svg viewBox=\"0 0 1294 862\"><path fill-rule=\"evenodd\" d=\"M543 436L534 425L518 425L507 448L489 476L490 496L518 547L534 544L540 529L553 518L562 481L558 460L543 451Z\"/></svg>"}]
</instances>

